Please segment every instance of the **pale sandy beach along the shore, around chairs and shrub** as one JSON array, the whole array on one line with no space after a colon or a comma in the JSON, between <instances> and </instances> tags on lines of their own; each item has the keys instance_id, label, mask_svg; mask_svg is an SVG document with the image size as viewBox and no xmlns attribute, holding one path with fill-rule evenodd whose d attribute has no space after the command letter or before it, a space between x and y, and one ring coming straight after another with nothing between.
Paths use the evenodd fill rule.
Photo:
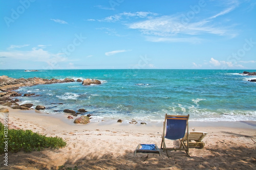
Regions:
<instances>
[{"instance_id":1,"label":"pale sandy beach along the shore, around chairs and shrub","mask_svg":"<svg viewBox=\"0 0 256 170\"><path fill-rule=\"evenodd\" d=\"M162 124L131 125L113 122L76 125L68 114L50 115L35 110L8 108L9 127L32 130L67 141L62 149L1 156L1 169L255 169L256 122L189 122L189 131L207 132L203 149L159 154L137 153L138 143L161 145ZM3 122L3 113L1 113ZM177 145L177 141L170 141Z\"/></svg>"}]
</instances>

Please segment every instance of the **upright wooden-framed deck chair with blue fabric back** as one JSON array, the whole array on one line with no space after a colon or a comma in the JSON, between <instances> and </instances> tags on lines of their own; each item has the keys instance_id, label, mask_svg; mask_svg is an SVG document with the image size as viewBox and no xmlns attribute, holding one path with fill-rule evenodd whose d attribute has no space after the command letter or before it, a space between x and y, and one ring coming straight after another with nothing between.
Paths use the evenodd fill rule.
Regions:
<instances>
[{"instance_id":1,"label":"upright wooden-framed deck chair with blue fabric back","mask_svg":"<svg viewBox=\"0 0 256 170\"><path fill-rule=\"evenodd\" d=\"M188 147L189 145L185 145L182 140L186 134L186 139L189 140L188 137L188 115L167 115L165 114L165 119L163 123L163 135L161 141L161 149L166 151L167 156L169 157L167 151L185 151L188 155ZM166 129L165 129L166 128ZM165 144L165 139L170 140L179 140L181 142L180 148L168 148Z\"/></svg>"}]
</instances>

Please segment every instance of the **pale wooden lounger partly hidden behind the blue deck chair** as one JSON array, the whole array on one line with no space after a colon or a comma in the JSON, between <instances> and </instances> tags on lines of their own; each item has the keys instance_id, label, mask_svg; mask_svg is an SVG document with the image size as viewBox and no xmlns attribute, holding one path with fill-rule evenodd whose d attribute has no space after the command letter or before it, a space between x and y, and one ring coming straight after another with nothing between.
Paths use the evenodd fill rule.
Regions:
<instances>
[{"instance_id":1,"label":"pale wooden lounger partly hidden behind the blue deck chair","mask_svg":"<svg viewBox=\"0 0 256 170\"><path fill-rule=\"evenodd\" d=\"M185 145L189 145L189 147L199 147L199 148L204 148L205 143L202 141L203 138L207 135L206 132L189 132L188 133L188 139L187 135L181 139ZM183 145L181 145L183 147Z\"/></svg>"}]
</instances>

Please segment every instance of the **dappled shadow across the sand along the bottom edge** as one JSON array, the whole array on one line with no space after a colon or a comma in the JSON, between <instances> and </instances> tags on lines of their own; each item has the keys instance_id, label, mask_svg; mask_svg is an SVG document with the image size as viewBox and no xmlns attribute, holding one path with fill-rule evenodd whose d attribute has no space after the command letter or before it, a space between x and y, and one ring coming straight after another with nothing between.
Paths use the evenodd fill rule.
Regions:
<instances>
[{"instance_id":1,"label":"dappled shadow across the sand along the bottom edge","mask_svg":"<svg viewBox=\"0 0 256 170\"><path fill-rule=\"evenodd\" d=\"M223 149L224 148L224 149ZM80 159L68 158L61 166L52 164L50 158L40 153L40 156L31 153L14 153L9 155L9 166L3 163L1 169L255 169L255 145L250 147L231 147L228 143L219 143L204 149L191 149L190 157L184 152L172 152L170 158L161 150L159 154L141 154L134 156L131 151L124 155L113 156L105 154L96 156L84 154ZM51 150L50 152L58 152ZM38 152L37 152L38 153ZM16 162L16 157L23 157Z\"/></svg>"}]
</instances>

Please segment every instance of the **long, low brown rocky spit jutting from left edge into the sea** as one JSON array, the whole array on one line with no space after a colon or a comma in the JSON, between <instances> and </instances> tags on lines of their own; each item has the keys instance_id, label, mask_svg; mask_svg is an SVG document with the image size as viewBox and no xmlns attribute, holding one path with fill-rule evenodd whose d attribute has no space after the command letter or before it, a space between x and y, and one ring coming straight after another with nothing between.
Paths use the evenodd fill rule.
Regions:
<instances>
[{"instance_id":1,"label":"long, low brown rocky spit jutting from left edge into the sea","mask_svg":"<svg viewBox=\"0 0 256 170\"><path fill-rule=\"evenodd\" d=\"M38 84L53 84L53 83L68 83L68 82L75 82L74 79L64 79L64 80L57 80L57 79L42 79L42 78L20 78L14 79L9 78L8 76L0 76L0 90L1 91L10 91L16 90L19 87L23 86L34 86Z\"/></svg>"}]
</instances>

